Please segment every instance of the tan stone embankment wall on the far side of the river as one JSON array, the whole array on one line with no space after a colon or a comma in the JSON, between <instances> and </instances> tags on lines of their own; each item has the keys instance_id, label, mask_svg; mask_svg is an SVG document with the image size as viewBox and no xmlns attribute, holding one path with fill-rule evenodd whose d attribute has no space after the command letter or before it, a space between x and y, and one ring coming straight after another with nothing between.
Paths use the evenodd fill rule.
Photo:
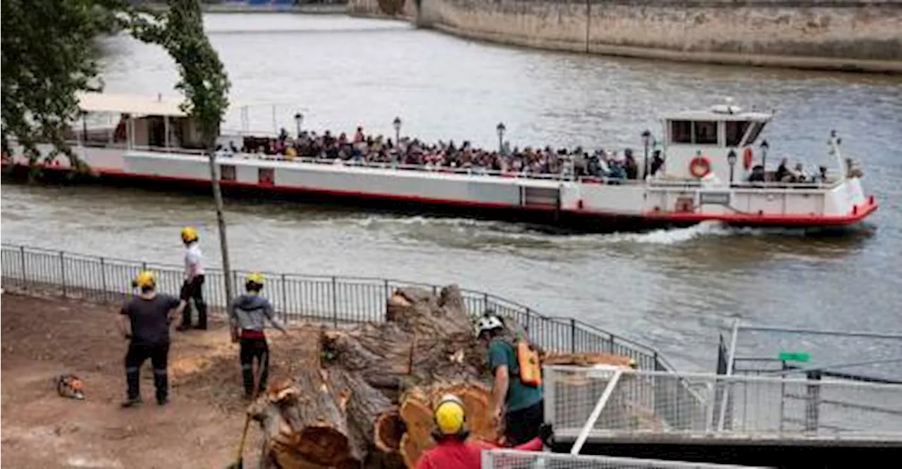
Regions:
<instances>
[{"instance_id":1,"label":"tan stone embankment wall on the far side of the river","mask_svg":"<svg viewBox=\"0 0 902 469\"><path fill-rule=\"evenodd\" d=\"M386 0L382 0L384 4ZM902 73L902 0L407 0L458 36L557 51ZM351 14L381 14L351 0Z\"/></svg>"}]
</instances>

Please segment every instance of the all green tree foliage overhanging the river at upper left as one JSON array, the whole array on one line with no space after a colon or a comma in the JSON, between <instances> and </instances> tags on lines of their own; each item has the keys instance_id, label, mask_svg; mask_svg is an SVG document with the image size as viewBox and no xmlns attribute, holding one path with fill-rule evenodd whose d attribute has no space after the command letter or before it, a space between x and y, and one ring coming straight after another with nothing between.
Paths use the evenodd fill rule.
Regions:
<instances>
[{"instance_id":1,"label":"all green tree foliage overhanging the river at upper left","mask_svg":"<svg viewBox=\"0 0 902 469\"><path fill-rule=\"evenodd\" d=\"M12 138L32 163L61 152L83 167L66 143L68 124L78 116L77 93L103 87L94 41L120 28L169 52L185 111L212 147L228 108L226 70L204 32L200 2L168 4L151 13L129 0L0 0L0 153L11 152ZM39 143L54 151L41 155Z\"/></svg>"}]
</instances>

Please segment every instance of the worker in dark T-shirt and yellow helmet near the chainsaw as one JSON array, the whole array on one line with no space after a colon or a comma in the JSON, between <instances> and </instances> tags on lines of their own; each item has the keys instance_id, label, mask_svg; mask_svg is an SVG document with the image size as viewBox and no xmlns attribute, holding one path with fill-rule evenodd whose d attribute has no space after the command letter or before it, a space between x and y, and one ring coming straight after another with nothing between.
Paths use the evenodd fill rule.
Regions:
<instances>
[{"instance_id":1,"label":"worker in dark T-shirt and yellow helmet near the chainsaw","mask_svg":"<svg viewBox=\"0 0 902 469\"><path fill-rule=\"evenodd\" d=\"M185 300L157 293L157 280L152 271L142 271L132 282L140 294L124 304L119 315L119 328L129 341L125 354L125 382L128 397L123 407L141 403L141 365L151 359L153 386L157 404L169 400L168 361L172 319L182 312Z\"/></svg>"}]
</instances>

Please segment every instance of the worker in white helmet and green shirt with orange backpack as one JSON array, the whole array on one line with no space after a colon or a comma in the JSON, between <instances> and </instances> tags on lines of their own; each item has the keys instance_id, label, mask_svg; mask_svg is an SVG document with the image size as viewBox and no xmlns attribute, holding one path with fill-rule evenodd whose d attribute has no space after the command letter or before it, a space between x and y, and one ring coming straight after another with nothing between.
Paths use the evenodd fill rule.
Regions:
<instances>
[{"instance_id":1,"label":"worker in white helmet and green shirt with orange backpack","mask_svg":"<svg viewBox=\"0 0 902 469\"><path fill-rule=\"evenodd\" d=\"M492 310L479 318L476 335L489 349L492 415L503 421L506 443L517 446L538 437L544 419L538 359L530 363L522 356L519 345L505 330L504 321ZM536 379L527 382L528 377Z\"/></svg>"}]
</instances>

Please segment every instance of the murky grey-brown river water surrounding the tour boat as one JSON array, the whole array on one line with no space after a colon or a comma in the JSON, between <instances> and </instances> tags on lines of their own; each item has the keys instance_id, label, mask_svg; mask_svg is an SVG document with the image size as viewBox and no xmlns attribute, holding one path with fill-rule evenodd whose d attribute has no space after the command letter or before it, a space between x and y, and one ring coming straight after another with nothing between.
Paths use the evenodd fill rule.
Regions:
<instances>
[{"instance_id":1,"label":"murky grey-brown river water surrounding the tour boat","mask_svg":"<svg viewBox=\"0 0 902 469\"><path fill-rule=\"evenodd\" d=\"M712 370L733 318L843 330L902 330L902 80L549 53L463 41L406 23L344 16L207 15L238 103L280 103L282 125L357 124L428 140L640 147L661 112L722 97L778 111L775 158L819 164L836 129L881 202L844 237L718 225L648 234L552 235L520 225L373 215L300 205L227 204L236 267L457 282L538 311L583 318L658 346L681 368ZM161 50L103 42L106 89L156 95L177 75ZM230 117L235 123L237 113ZM254 128L272 108L251 108ZM259 126L259 127L257 127ZM176 193L5 185L0 241L79 253L180 261L182 225L217 259L206 198ZM829 345L829 343L827 343ZM821 346L824 346L823 340ZM848 352L855 347L848 345Z\"/></svg>"}]
</instances>

